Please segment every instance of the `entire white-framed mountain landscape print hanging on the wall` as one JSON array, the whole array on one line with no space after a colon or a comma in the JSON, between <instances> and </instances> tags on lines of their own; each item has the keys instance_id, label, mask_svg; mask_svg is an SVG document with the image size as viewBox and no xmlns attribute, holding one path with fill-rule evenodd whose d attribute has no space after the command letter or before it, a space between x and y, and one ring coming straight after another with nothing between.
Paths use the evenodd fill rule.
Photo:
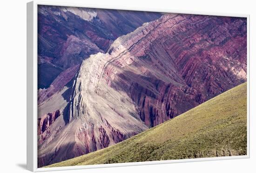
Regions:
<instances>
[{"instance_id":1,"label":"entire white-framed mountain landscape print hanging on the wall","mask_svg":"<svg viewBox=\"0 0 256 173\"><path fill-rule=\"evenodd\" d=\"M31 171L249 157L249 15L27 3Z\"/></svg>"}]
</instances>

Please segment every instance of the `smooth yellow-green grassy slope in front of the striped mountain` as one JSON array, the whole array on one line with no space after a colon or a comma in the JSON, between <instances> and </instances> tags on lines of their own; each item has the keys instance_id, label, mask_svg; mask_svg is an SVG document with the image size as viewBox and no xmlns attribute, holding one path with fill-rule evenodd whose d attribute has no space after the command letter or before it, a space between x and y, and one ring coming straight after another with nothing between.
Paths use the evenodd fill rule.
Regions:
<instances>
[{"instance_id":1,"label":"smooth yellow-green grassy slope in front of the striped mountain","mask_svg":"<svg viewBox=\"0 0 256 173\"><path fill-rule=\"evenodd\" d=\"M114 146L47 167L246 155L246 83Z\"/></svg>"}]
</instances>

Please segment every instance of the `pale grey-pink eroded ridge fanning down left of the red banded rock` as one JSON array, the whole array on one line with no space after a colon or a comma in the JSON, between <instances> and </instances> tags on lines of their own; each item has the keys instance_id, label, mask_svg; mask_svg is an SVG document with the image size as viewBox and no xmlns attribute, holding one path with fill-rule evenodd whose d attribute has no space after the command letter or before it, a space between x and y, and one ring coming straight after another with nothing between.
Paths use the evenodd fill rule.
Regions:
<instances>
[{"instance_id":1,"label":"pale grey-pink eroded ridge fanning down left of the red banded rock","mask_svg":"<svg viewBox=\"0 0 256 173\"><path fill-rule=\"evenodd\" d=\"M98 53L83 61L59 122L47 123L47 128L39 123L39 166L90 153L148 129L128 94L115 91L99 78L107 60L105 54ZM54 99L63 93L54 94L49 102L56 102ZM47 101L41 104L44 108L47 105Z\"/></svg>"}]
</instances>

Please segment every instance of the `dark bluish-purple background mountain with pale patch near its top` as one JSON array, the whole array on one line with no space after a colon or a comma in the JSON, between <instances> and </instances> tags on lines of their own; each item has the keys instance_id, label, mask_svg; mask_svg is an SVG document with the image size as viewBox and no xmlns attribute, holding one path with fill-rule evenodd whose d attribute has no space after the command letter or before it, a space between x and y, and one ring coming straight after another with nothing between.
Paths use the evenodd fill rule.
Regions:
<instances>
[{"instance_id":1,"label":"dark bluish-purple background mountain with pale patch near its top","mask_svg":"<svg viewBox=\"0 0 256 173\"><path fill-rule=\"evenodd\" d=\"M152 12L40 5L38 88L46 90L67 68L81 64L91 54L106 52L117 37L161 16Z\"/></svg>"}]
</instances>

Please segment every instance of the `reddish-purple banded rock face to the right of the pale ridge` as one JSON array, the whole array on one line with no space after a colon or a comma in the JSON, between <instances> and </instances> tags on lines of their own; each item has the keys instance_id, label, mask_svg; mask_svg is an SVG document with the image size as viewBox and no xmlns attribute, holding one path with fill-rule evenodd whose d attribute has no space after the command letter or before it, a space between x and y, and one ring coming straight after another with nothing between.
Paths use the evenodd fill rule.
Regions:
<instances>
[{"instance_id":1,"label":"reddish-purple banded rock face to the right of the pale ridge","mask_svg":"<svg viewBox=\"0 0 256 173\"><path fill-rule=\"evenodd\" d=\"M102 76L156 126L246 81L246 38L245 18L165 15L115 41Z\"/></svg>"}]
</instances>

